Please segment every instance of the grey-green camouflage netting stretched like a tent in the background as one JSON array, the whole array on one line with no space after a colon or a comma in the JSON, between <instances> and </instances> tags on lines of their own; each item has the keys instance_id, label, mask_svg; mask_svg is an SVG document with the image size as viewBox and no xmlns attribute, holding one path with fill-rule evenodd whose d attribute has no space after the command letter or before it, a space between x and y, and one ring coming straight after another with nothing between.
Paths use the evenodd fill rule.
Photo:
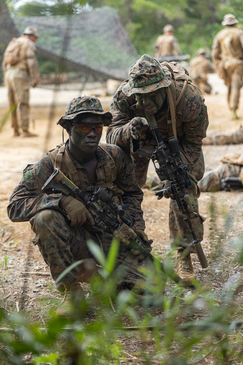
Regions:
<instances>
[{"instance_id":1,"label":"grey-green camouflage netting stretched like a tent in the background","mask_svg":"<svg viewBox=\"0 0 243 365\"><path fill-rule=\"evenodd\" d=\"M138 58L117 11L108 6L69 19L66 16L15 17L14 22L20 32L27 25L38 29L39 54L54 61L63 57L65 65L77 71L75 75L65 76L68 77L66 88L82 89L84 84L85 89L99 87L108 78L125 80L129 66ZM47 82L43 86L48 87L44 84Z\"/></svg>"}]
</instances>

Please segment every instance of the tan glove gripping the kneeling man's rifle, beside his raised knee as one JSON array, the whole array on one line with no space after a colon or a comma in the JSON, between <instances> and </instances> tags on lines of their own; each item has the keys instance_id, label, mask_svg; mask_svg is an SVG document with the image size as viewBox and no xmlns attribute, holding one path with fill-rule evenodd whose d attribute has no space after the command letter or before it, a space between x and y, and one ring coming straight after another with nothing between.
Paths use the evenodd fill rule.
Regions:
<instances>
[{"instance_id":1,"label":"tan glove gripping the kneeling man's rifle, beside his raised knee","mask_svg":"<svg viewBox=\"0 0 243 365\"><path fill-rule=\"evenodd\" d=\"M94 219L85 205L70 195L64 200L60 208L70 218L70 226L78 226L79 224L82 226L86 220L91 226L94 224Z\"/></svg>"}]
</instances>

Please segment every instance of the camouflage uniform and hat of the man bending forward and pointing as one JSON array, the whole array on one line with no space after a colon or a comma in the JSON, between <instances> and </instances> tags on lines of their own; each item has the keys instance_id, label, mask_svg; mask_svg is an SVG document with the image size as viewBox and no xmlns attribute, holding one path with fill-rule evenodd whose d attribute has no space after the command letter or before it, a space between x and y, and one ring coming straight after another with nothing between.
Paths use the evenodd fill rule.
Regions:
<instances>
[{"instance_id":1,"label":"camouflage uniform and hat of the man bending forward and pointing","mask_svg":"<svg viewBox=\"0 0 243 365\"><path fill-rule=\"evenodd\" d=\"M140 187L146 182L149 160L138 157L137 152L140 147L153 151L157 142L154 140L150 128L146 128L146 130L144 128L139 139L132 139L128 122L135 116L144 118L145 114L141 108L138 108L134 93L130 96L127 96L126 94L128 93L128 89L133 90L134 92L134 89L136 88L131 87L131 85L134 85L136 82L141 82L145 85L144 87L137 88L138 93L149 93L150 91L154 91L161 87L168 87L168 85L171 84L171 73L165 64L163 64L163 68L161 65L158 65L160 64L158 64L158 61L153 57L144 55L131 66L129 80L123 82L113 98L110 109L113 114L113 122L107 128L107 142L121 147L126 153L131 153L134 159L135 175ZM161 72L164 73L163 77ZM150 80L146 78L148 81L147 85L144 84L145 74L146 77L150 75ZM155 82L153 82L153 80L155 80ZM172 82L175 83L174 80ZM179 82L182 82L182 85L184 84L184 81L178 80L178 83ZM126 93L124 92L124 89ZM162 108L154 114L154 117L157 121L162 138L164 141L168 141L168 138L172 137L173 131L171 131L171 124L168 124L167 122L171 119L169 118L169 105L167 99L165 103L166 105L163 105ZM176 132L181 153L190 166L190 176L193 186L192 188L189 188L188 191L191 189L194 196L197 194L197 180L200 180L204 174L204 159L201 145L202 139L205 137L207 126L207 107L204 104L203 95L193 84L188 82L184 93L183 110L177 110ZM187 247L192 243L189 227L185 224L183 219L184 215L180 213L176 201L171 200L169 229L170 242L173 249ZM204 219L201 216L192 220L193 228L200 240L203 239L203 220ZM193 247L191 247L192 252L193 250Z\"/></svg>"}]
</instances>

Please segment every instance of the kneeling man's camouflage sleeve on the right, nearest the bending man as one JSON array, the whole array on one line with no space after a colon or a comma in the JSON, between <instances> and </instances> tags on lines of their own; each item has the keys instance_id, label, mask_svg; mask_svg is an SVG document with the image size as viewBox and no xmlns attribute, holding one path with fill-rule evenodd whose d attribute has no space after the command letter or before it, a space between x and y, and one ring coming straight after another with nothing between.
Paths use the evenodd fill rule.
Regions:
<instances>
[{"instance_id":1,"label":"kneeling man's camouflage sleeve on the right, nearest the bending man","mask_svg":"<svg viewBox=\"0 0 243 365\"><path fill-rule=\"evenodd\" d=\"M126 205L128 213L136 219L136 223L132 228L144 230L145 222L141 209L144 193L138 186L132 158L117 146L106 145L106 147L117 166L117 177L114 183L119 189L124 191L124 194L121 196L122 202Z\"/></svg>"}]
</instances>

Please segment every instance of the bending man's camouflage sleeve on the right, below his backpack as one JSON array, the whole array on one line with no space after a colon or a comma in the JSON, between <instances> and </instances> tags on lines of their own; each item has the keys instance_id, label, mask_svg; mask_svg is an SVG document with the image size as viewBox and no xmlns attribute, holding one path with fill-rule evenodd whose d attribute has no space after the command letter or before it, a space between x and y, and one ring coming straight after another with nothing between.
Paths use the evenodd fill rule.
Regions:
<instances>
[{"instance_id":1,"label":"bending man's camouflage sleeve on the right, below his backpack","mask_svg":"<svg viewBox=\"0 0 243 365\"><path fill-rule=\"evenodd\" d=\"M195 161L202 153L202 140L208 127L207 107L204 97L195 86L188 85L183 103L184 133L180 140L181 153L191 165L191 172L197 176Z\"/></svg>"}]
</instances>

